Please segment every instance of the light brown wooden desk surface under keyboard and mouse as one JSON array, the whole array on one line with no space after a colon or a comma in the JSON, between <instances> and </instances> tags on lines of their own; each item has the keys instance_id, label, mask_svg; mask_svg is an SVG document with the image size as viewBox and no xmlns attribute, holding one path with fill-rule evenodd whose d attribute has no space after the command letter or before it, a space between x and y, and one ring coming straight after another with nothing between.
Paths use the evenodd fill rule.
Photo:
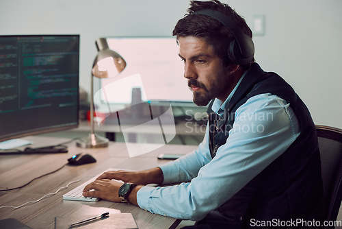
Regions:
<instances>
[{"instance_id":1,"label":"light brown wooden desk surface under keyboard and mouse","mask_svg":"<svg viewBox=\"0 0 342 229\"><path fill-rule=\"evenodd\" d=\"M38 136L27 137L26 139L36 143L32 147L54 145L68 140ZM139 228L175 228L180 220L154 215L137 206L105 200L95 203L66 201L62 200L62 195L90 179L90 177L86 176L96 176L105 169L111 167L135 170L148 169L168 162L167 160L157 160L157 155L161 152L170 154L188 153L195 148L196 146L164 145L148 154L129 158L124 143L111 142L109 147L103 149L81 149L76 147L75 142L73 142L68 144L68 154L0 156L0 189L21 186L33 178L54 171L65 165L67 159L73 156L73 154L79 152L92 154L97 160L96 163L88 165L66 166L56 173L35 180L22 189L1 192L0 206L20 206L31 200L38 200L47 193L54 193L60 187L66 186L68 182L84 178L80 182L71 184L68 189L64 189L38 203L28 204L18 209L0 208L0 219L14 218L31 228L46 229L54 228L55 217L98 215L104 212L103 208L106 208L111 213L113 211L132 213Z\"/></svg>"}]
</instances>

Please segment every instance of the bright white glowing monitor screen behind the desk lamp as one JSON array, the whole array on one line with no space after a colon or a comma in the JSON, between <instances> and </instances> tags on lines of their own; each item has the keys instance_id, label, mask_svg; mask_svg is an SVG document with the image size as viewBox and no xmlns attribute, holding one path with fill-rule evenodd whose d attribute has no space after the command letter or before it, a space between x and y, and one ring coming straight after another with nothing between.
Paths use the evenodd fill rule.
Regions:
<instances>
[{"instance_id":1,"label":"bright white glowing monitor screen behind the desk lamp","mask_svg":"<svg viewBox=\"0 0 342 229\"><path fill-rule=\"evenodd\" d=\"M192 103L174 37L109 37L109 49L127 63L114 79L101 81L101 101L109 104L131 104L132 95L140 88L142 101ZM137 95L140 95L140 92Z\"/></svg>"}]
</instances>

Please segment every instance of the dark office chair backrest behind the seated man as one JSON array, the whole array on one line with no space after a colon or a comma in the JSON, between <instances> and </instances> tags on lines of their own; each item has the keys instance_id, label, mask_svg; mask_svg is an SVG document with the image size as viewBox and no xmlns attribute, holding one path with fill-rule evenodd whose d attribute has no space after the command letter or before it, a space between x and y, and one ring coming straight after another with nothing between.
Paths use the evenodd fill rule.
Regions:
<instances>
[{"instance_id":1,"label":"dark office chair backrest behind the seated man","mask_svg":"<svg viewBox=\"0 0 342 229\"><path fill-rule=\"evenodd\" d=\"M342 200L342 130L316 125L328 221L335 221ZM330 228L334 228L333 226Z\"/></svg>"}]
</instances>

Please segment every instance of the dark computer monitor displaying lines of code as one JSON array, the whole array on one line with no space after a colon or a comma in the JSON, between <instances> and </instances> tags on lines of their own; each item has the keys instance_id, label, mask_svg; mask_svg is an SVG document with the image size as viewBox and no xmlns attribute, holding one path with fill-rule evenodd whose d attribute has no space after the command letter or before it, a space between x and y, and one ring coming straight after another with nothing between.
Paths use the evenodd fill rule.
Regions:
<instances>
[{"instance_id":1,"label":"dark computer monitor displaying lines of code","mask_svg":"<svg viewBox=\"0 0 342 229\"><path fill-rule=\"evenodd\" d=\"M0 142L76 128L79 35L0 36Z\"/></svg>"}]
</instances>

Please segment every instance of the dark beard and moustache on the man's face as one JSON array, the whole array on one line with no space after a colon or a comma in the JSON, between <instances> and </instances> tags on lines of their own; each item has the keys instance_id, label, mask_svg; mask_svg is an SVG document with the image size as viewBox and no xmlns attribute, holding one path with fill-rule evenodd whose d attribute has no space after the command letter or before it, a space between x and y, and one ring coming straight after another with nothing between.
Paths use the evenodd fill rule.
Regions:
<instances>
[{"instance_id":1,"label":"dark beard and moustache on the man's face","mask_svg":"<svg viewBox=\"0 0 342 229\"><path fill-rule=\"evenodd\" d=\"M212 93L211 91L207 89L207 87L204 84L194 79L189 79L189 81L187 82L187 85L189 86L189 88L191 88L191 86L198 86L202 88L204 91L204 92L197 92L197 91L193 92L194 93L193 101L194 101L194 104L196 104L197 106L207 106L209 104L209 101L211 101L211 99L214 99L216 95L218 94L218 91L215 91L216 93Z\"/></svg>"}]
</instances>

